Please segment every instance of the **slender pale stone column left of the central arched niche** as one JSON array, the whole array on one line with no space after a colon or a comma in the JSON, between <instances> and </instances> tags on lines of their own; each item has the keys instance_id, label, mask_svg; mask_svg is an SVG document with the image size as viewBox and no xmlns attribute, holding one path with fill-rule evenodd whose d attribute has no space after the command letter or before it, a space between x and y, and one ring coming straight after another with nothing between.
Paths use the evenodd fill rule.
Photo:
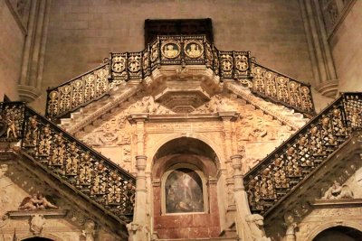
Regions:
<instances>
[{"instance_id":1,"label":"slender pale stone column left of the central arched niche","mask_svg":"<svg viewBox=\"0 0 362 241\"><path fill-rule=\"evenodd\" d=\"M147 186L146 166L147 156L145 155L145 121L148 114L132 114L129 118L131 123L136 123L137 155L136 155L136 197L133 221L127 225L129 229L129 240L148 240L148 210L147 210Z\"/></svg>"}]
</instances>

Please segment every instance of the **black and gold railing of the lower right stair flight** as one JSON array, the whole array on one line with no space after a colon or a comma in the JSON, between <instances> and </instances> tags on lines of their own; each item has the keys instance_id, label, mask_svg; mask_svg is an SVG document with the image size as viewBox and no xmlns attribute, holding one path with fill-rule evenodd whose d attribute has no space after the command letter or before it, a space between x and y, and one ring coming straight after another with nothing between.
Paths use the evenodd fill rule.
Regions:
<instances>
[{"instance_id":1,"label":"black and gold railing of the lower right stair flight","mask_svg":"<svg viewBox=\"0 0 362 241\"><path fill-rule=\"evenodd\" d=\"M342 94L244 177L252 212L266 215L362 127L362 93Z\"/></svg>"}]
</instances>

